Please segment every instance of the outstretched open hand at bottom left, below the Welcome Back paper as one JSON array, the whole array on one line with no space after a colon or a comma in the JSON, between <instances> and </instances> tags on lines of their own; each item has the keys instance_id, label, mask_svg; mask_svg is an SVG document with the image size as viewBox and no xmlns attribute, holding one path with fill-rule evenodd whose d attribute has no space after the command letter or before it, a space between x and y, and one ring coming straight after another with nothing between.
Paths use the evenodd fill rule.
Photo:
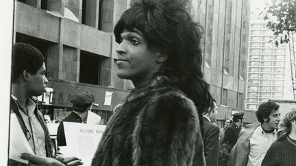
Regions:
<instances>
[{"instance_id":1,"label":"outstretched open hand at bottom left, below the Welcome Back paper","mask_svg":"<svg viewBox=\"0 0 296 166\"><path fill-rule=\"evenodd\" d=\"M69 157L69 158L48 158L37 156L34 154L22 153L21 158L24 160L29 161L30 166L34 165L46 165L46 166L75 166L75 165L82 165L82 161L76 157Z\"/></svg>"}]
</instances>

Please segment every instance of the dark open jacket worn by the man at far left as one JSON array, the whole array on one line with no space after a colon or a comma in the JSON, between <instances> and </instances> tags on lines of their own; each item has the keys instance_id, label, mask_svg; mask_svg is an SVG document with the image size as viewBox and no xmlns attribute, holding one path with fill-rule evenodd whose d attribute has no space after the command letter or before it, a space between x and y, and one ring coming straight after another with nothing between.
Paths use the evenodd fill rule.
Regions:
<instances>
[{"instance_id":1,"label":"dark open jacket worn by the man at far left","mask_svg":"<svg viewBox=\"0 0 296 166\"><path fill-rule=\"evenodd\" d=\"M34 102L36 102L34 99L32 99L32 100ZM16 117L18 119L19 124L21 125L21 128L23 130L24 135L27 135L27 127L25 126L25 122L23 120L23 117L21 116L21 113L18 110L18 104L13 98L10 98L10 113L15 113L16 114ZM44 120L44 117L43 117L42 113L38 110L37 102L36 102L36 107L35 107L35 110L34 110L34 114L38 118L38 120L39 120L39 122L40 122L40 124L41 124L41 126L42 126L42 128L44 130L44 133L45 133L45 150L46 150L46 153L47 153L47 157L53 157L53 152L52 152L52 149L51 149L51 139L50 139L50 136L49 136L49 130L47 128L47 124L45 123L45 120ZM17 165L17 164L15 163L15 161L10 160L10 165Z\"/></svg>"}]
</instances>

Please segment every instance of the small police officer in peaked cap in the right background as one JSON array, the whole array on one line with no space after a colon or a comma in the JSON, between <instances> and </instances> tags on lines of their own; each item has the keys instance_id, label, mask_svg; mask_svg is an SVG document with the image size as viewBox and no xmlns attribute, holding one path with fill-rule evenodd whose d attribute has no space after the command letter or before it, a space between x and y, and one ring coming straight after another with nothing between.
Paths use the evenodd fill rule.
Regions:
<instances>
[{"instance_id":1,"label":"small police officer in peaked cap in the right background","mask_svg":"<svg viewBox=\"0 0 296 166\"><path fill-rule=\"evenodd\" d=\"M243 125L244 113L234 113L232 114L233 123L230 126L227 126L225 129L225 135L222 143L229 143L230 150L236 144L238 139L238 134L240 133L240 128Z\"/></svg>"}]
</instances>

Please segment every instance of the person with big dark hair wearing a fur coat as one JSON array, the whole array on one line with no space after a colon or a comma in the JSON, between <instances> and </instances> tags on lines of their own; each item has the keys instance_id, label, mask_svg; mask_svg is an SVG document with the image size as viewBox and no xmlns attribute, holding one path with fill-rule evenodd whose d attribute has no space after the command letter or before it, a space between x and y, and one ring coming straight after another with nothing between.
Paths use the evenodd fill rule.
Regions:
<instances>
[{"instance_id":1,"label":"person with big dark hair wearing a fur coat","mask_svg":"<svg viewBox=\"0 0 296 166\"><path fill-rule=\"evenodd\" d=\"M205 165L201 26L187 1L132 1L114 27L117 76L135 89L116 108L92 165Z\"/></svg>"}]
</instances>

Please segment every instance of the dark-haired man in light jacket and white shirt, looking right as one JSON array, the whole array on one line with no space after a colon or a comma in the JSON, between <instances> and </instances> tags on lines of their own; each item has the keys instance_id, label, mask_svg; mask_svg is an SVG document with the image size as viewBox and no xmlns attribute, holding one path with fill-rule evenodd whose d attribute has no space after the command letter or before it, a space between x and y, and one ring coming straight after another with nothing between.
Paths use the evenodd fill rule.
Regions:
<instances>
[{"instance_id":1,"label":"dark-haired man in light jacket and white shirt, looking right","mask_svg":"<svg viewBox=\"0 0 296 166\"><path fill-rule=\"evenodd\" d=\"M228 159L228 165L261 165L267 150L277 139L276 129L280 124L279 105L275 102L263 102L256 111L260 123L245 128Z\"/></svg>"}]
</instances>

